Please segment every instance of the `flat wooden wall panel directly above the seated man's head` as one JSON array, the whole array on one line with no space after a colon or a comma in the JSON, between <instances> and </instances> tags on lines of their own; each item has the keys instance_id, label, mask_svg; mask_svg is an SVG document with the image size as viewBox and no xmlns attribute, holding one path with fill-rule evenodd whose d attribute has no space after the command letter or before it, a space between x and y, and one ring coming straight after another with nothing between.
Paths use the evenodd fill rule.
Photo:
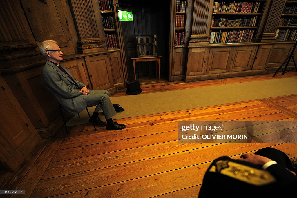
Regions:
<instances>
[{"instance_id":1,"label":"flat wooden wall panel directly above the seated man's head","mask_svg":"<svg viewBox=\"0 0 297 198\"><path fill-rule=\"evenodd\" d=\"M20 0L36 41L56 40L65 51L65 55L73 54L75 50L70 41L71 35L61 1L53 0L44 3Z\"/></svg>"}]
</instances>

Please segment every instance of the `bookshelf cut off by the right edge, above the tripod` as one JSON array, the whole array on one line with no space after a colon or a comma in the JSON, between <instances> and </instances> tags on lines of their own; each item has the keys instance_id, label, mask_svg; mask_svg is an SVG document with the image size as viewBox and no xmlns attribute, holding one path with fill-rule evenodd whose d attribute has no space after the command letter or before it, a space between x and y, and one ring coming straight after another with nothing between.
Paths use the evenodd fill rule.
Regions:
<instances>
[{"instance_id":1,"label":"bookshelf cut off by the right edge, above the tripod","mask_svg":"<svg viewBox=\"0 0 297 198\"><path fill-rule=\"evenodd\" d=\"M285 1L276 32L277 41L294 41L297 38L297 0Z\"/></svg>"}]
</instances>

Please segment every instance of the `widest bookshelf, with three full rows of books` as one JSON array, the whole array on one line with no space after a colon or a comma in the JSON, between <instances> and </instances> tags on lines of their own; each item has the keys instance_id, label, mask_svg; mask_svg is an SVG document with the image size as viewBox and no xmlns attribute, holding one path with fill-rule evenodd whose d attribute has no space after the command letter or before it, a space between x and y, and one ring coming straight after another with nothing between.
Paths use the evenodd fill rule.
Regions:
<instances>
[{"instance_id":1,"label":"widest bookshelf, with three full rows of books","mask_svg":"<svg viewBox=\"0 0 297 198\"><path fill-rule=\"evenodd\" d=\"M265 0L214 1L210 44L255 41Z\"/></svg>"}]
</instances>

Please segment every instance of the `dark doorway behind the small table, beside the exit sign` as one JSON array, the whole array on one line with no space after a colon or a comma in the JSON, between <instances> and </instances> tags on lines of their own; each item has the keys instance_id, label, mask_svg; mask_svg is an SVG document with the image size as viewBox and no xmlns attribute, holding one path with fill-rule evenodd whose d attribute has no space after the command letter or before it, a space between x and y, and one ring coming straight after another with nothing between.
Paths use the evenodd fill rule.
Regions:
<instances>
[{"instance_id":1,"label":"dark doorway behind the small table, beside the exit sign","mask_svg":"<svg viewBox=\"0 0 297 198\"><path fill-rule=\"evenodd\" d=\"M121 4L127 4L133 7L134 22L121 22L129 80L134 80L134 69L131 58L137 56L135 34L151 34L157 35L157 56L162 56L160 64L161 81L168 81L170 0L119 0L120 7ZM140 84L160 81L159 76L156 76L158 73L156 69L156 62L137 63L136 77L139 77Z\"/></svg>"}]
</instances>

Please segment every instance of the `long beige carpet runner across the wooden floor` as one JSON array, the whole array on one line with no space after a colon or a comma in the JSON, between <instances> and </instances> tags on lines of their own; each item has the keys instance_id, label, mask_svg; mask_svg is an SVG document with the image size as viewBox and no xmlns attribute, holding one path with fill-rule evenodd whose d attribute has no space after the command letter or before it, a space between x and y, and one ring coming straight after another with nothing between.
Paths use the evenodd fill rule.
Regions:
<instances>
[{"instance_id":1,"label":"long beige carpet runner across the wooden floor","mask_svg":"<svg viewBox=\"0 0 297 198\"><path fill-rule=\"evenodd\" d=\"M110 100L124 108L123 112L113 117L119 119L290 94L297 94L297 77L118 96L110 97ZM95 107L88 109L92 114ZM80 116L78 118L75 115L67 122L67 126L88 123L86 110L80 113ZM100 118L105 120L101 114Z\"/></svg>"}]
</instances>

